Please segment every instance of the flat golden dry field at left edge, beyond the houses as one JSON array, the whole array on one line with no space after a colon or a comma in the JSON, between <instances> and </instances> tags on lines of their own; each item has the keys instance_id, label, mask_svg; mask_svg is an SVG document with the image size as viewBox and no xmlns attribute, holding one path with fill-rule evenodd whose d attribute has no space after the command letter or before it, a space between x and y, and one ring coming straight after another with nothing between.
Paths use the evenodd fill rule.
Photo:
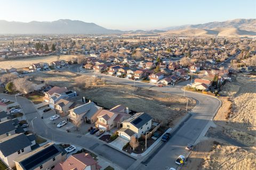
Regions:
<instances>
[{"instance_id":1,"label":"flat golden dry field at left edge, beyond the houses","mask_svg":"<svg viewBox=\"0 0 256 170\"><path fill-rule=\"evenodd\" d=\"M61 55L60 60L70 60L71 58L75 57L74 55ZM1 69L10 69L14 67L16 69L29 67L30 64L45 62L50 63L52 61L56 61L57 56L43 56L43 57L33 57L33 58L24 58L19 60L11 60L11 61L2 61L0 62Z\"/></svg>"}]
</instances>

